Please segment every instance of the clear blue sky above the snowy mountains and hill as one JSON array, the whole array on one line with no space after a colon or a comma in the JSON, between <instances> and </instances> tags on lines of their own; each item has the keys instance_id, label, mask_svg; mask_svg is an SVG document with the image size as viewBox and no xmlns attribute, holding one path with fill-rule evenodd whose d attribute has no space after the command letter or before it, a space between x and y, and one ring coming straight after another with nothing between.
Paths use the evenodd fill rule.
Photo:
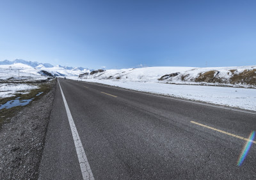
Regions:
<instances>
[{"instance_id":1,"label":"clear blue sky above the snowy mountains and hill","mask_svg":"<svg viewBox=\"0 0 256 180\"><path fill-rule=\"evenodd\" d=\"M256 64L256 1L0 1L0 61Z\"/></svg>"}]
</instances>

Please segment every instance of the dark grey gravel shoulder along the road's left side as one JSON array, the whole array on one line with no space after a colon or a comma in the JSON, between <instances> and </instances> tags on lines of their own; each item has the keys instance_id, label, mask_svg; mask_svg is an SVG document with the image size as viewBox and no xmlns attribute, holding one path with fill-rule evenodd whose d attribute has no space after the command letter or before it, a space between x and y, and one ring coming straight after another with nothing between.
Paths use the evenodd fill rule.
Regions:
<instances>
[{"instance_id":1,"label":"dark grey gravel shoulder along the road's left side","mask_svg":"<svg viewBox=\"0 0 256 180\"><path fill-rule=\"evenodd\" d=\"M20 110L0 129L0 179L37 179L51 115L56 80L39 100Z\"/></svg>"}]
</instances>

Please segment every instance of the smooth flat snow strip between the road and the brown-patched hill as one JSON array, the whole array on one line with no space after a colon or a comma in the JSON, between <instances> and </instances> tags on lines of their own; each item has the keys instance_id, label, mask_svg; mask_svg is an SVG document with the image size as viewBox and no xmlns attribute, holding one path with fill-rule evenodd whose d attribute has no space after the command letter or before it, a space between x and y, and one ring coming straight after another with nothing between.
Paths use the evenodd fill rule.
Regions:
<instances>
[{"instance_id":1,"label":"smooth flat snow strip between the road and the brown-patched hill","mask_svg":"<svg viewBox=\"0 0 256 180\"><path fill-rule=\"evenodd\" d=\"M74 77L68 77L68 79L98 82L138 91L166 94L188 100L204 101L229 107L238 107L240 109L256 110L256 89L163 84L159 82L132 82L127 80L77 79Z\"/></svg>"}]
</instances>

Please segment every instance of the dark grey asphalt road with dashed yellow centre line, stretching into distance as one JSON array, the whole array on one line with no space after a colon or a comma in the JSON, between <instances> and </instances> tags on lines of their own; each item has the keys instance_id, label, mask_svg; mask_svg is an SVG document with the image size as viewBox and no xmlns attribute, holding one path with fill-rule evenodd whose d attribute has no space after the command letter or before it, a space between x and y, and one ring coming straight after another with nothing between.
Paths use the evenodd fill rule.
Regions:
<instances>
[{"instance_id":1,"label":"dark grey asphalt road with dashed yellow centre line, stretching into distance","mask_svg":"<svg viewBox=\"0 0 256 180\"><path fill-rule=\"evenodd\" d=\"M256 113L59 80L95 179L256 179ZM40 179L83 179L68 122L58 84Z\"/></svg>"}]
</instances>

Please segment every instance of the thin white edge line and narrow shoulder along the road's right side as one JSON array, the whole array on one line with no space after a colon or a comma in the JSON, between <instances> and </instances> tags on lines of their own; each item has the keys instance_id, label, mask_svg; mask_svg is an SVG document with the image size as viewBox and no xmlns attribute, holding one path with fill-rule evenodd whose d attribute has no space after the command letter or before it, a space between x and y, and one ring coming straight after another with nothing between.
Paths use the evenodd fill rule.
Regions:
<instances>
[{"instance_id":1,"label":"thin white edge line and narrow shoulder along the road's right side","mask_svg":"<svg viewBox=\"0 0 256 180\"><path fill-rule=\"evenodd\" d=\"M157 96L157 97L161 97L161 98L168 98L168 99L172 99L172 100L178 100L178 101L185 101L185 102L188 102L188 103L195 103L195 104L199 104L199 105L206 105L206 106L210 106L210 107L218 107L218 108L221 108L221 109L228 109L228 110L235 110L235 111L238 111L238 112L244 112L244 113L248 113L248 114L254 114L256 115L256 113L254 112L248 112L248 111L245 111L245 110L238 110L238 109L232 109L232 108L228 108L228 107L223 107L223 106L218 106L218 105L210 105L210 104L207 104L207 102L205 103L200 103L200 102L196 102L196 101L192 101L192 100L182 100L180 98L172 98L172 97L167 97L167 96L161 96L161 95L158 95L157 93L154 93L154 94L151 94L151 93L143 93L142 91L141 92L138 92L140 90L132 90L132 89L121 89L121 88L124 88L124 87L121 87L121 88L116 88L116 87L111 87L111 85L108 85L108 86L105 86L105 84L95 84L93 82L88 82L88 81L81 81L81 82L85 82L85 83L88 83L88 84L92 84L92 85L96 85L96 86L102 86L102 87L109 87L109 88L112 88L112 89L119 89L119 90L122 90L122 91L130 91L130 92L133 92L133 93L140 93L140 94L147 94L147 95L150 95L150 96ZM99 83L99 82L97 82ZM119 87L119 86L118 86Z\"/></svg>"}]
</instances>

